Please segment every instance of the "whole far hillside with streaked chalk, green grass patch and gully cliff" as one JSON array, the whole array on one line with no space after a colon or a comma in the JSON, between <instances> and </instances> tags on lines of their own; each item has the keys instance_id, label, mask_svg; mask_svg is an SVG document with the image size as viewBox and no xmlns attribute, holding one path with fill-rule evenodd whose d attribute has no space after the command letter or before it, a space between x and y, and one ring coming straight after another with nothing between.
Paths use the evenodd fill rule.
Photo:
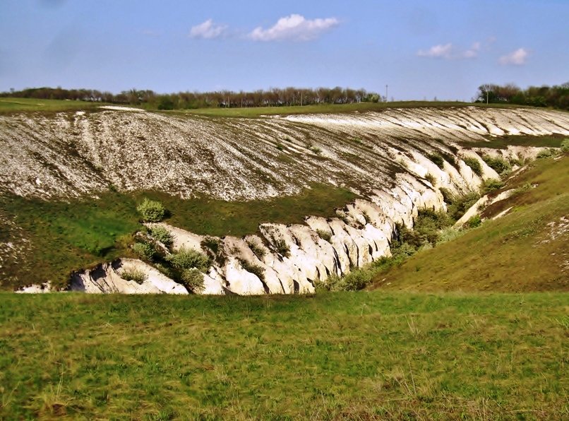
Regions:
<instances>
[{"instance_id":1,"label":"whole far hillside with streaked chalk, green grass patch and gully cliff","mask_svg":"<svg viewBox=\"0 0 569 421\"><path fill-rule=\"evenodd\" d=\"M445 210L442 191L467 194L498 178L484 154L520 163L568 135L569 114L544 109L8 112L0 115L0 280L168 292L179 280L162 263L190 248L211 257L203 293L313 292L330 275L389 256L397 226L412 227L421 208ZM484 148L516 137L524 146ZM144 259L161 273L115 260L136 257L134 233L152 229L138 225L145 197L166 204L162 229L176 239L162 261ZM145 273L141 286L121 278L133 266Z\"/></svg>"}]
</instances>

